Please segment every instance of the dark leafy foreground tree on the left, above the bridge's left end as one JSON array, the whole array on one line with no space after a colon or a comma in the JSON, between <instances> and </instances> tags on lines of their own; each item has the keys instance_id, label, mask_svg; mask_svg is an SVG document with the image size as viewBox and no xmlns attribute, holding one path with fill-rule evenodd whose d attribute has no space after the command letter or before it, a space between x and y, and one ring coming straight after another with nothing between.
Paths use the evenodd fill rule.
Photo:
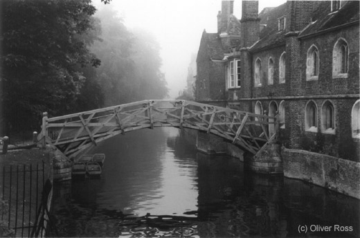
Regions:
<instances>
[{"instance_id":1,"label":"dark leafy foreground tree on the left, above the bridge's left end","mask_svg":"<svg viewBox=\"0 0 360 238\"><path fill-rule=\"evenodd\" d=\"M87 48L96 8L91 0L2 4L2 113L8 127L37 127L43 111L71 111L86 81L80 68L100 64Z\"/></svg>"}]
</instances>

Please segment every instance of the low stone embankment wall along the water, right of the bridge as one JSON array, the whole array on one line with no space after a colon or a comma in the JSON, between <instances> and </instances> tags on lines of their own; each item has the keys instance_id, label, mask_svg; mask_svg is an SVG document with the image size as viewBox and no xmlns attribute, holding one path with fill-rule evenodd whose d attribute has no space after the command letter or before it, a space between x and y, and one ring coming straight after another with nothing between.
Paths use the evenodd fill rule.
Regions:
<instances>
[{"instance_id":1,"label":"low stone embankment wall along the water, right of the bridge","mask_svg":"<svg viewBox=\"0 0 360 238\"><path fill-rule=\"evenodd\" d=\"M288 178L360 199L360 163L300 149L282 149L282 162Z\"/></svg>"}]
</instances>

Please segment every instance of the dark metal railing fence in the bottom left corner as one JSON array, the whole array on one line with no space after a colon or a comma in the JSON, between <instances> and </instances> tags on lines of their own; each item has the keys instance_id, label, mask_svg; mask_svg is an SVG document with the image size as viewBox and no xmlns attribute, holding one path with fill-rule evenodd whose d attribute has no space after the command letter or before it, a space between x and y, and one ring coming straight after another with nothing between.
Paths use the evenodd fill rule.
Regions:
<instances>
[{"instance_id":1,"label":"dark metal railing fence in the bottom left corner","mask_svg":"<svg viewBox=\"0 0 360 238\"><path fill-rule=\"evenodd\" d=\"M38 237L44 234L43 217L50 192L48 183L51 190L51 182L45 182L44 161L2 168L1 220L7 223L13 236Z\"/></svg>"}]
</instances>

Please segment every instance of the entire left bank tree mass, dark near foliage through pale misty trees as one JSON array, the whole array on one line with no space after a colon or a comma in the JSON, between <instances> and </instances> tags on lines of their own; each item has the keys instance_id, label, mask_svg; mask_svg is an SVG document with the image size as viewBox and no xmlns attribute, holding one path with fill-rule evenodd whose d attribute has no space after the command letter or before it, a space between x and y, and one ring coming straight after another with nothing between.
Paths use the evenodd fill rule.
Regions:
<instances>
[{"instance_id":1,"label":"entire left bank tree mass, dark near foliage through pale misty trees","mask_svg":"<svg viewBox=\"0 0 360 238\"><path fill-rule=\"evenodd\" d=\"M38 130L44 111L52 117L167 95L159 44L131 33L111 8L96 18L91 0L1 3L0 124L7 130L0 133Z\"/></svg>"}]
</instances>

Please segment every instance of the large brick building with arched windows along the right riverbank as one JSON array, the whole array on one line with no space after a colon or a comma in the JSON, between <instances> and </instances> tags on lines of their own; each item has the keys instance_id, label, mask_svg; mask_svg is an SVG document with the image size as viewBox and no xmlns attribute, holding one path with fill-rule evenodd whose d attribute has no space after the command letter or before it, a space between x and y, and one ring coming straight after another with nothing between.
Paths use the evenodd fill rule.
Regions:
<instances>
[{"instance_id":1,"label":"large brick building with arched windows along the right riverbank","mask_svg":"<svg viewBox=\"0 0 360 238\"><path fill-rule=\"evenodd\" d=\"M359 1L222 1L218 32L201 37L195 98L280 115L280 139L359 161ZM273 131L269 127L269 132Z\"/></svg>"}]
</instances>

